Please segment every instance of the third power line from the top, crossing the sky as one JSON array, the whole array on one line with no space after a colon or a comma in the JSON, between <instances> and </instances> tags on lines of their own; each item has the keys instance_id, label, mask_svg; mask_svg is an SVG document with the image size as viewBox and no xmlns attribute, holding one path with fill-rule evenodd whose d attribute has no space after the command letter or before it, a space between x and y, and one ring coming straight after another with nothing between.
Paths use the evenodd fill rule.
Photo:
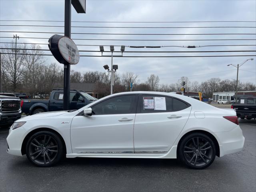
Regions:
<instances>
[{"instance_id":1,"label":"third power line from the top, crossing the sky","mask_svg":"<svg viewBox=\"0 0 256 192\"><path fill-rule=\"evenodd\" d=\"M32 31L0 31L2 33L43 33L43 34L64 34L63 32L32 32ZM256 35L256 33L201 33L201 34L175 34L175 33L71 33L71 34L85 34L85 35Z\"/></svg>"}]
</instances>

